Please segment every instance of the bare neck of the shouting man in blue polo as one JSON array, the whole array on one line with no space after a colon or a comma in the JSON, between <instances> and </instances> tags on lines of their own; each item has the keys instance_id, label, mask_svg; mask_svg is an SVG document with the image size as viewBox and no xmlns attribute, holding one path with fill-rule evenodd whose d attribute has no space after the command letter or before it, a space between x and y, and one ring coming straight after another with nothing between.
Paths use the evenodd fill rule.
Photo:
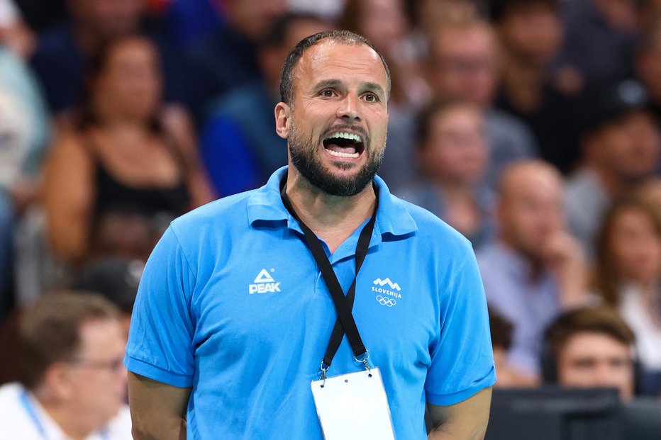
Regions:
<instances>
[{"instance_id":1,"label":"bare neck of the shouting man in blue polo","mask_svg":"<svg viewBox=\"0 0 661 440\"><path fill-rule=\"evenodd\" d=\"M291 165L287 172L287 196L301 221L326 242L331 253L372 217L376 203L372 185L355 196L331 196L312 186Z\"/></svg>"}]
</instances>

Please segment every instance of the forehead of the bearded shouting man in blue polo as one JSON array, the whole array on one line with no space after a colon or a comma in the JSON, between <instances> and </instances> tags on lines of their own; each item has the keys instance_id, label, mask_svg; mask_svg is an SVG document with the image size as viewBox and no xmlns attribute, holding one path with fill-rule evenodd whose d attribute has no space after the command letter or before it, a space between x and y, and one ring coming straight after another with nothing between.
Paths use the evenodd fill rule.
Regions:
<instances>
[{"instance_id":1,"label":"forehead of the bearded shouting man in blue polo","mask_svg":"<svg viewBox=\"0 0 661 440\"><path fill-rule=\"evenodd\" d=\"M294 70L296 86L304 89L326 79L373 82L388 89L381 58L364 44L350 45L324 40L309 47Z\"/></svg>"}]
</instances>

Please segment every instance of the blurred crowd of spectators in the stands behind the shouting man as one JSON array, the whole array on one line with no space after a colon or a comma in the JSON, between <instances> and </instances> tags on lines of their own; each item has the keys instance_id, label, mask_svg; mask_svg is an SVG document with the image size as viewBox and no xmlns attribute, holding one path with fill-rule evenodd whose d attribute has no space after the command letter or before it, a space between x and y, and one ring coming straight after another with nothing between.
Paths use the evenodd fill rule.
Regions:
<instances>
[{"instance_id":1,"label":"blurred crowd of spectators in the stands behind the shouting man","mask_svg":"<svg viewBox=\"0 0 661 440\"><path fill-rule=\"evenodd\" d=\"M284 166L282 62L330 28L389 63L379 175L477 252L496 385L661 395L658 0L0 0L0 337L130 310L170 220Z\"/></svg>"}]
</instances>

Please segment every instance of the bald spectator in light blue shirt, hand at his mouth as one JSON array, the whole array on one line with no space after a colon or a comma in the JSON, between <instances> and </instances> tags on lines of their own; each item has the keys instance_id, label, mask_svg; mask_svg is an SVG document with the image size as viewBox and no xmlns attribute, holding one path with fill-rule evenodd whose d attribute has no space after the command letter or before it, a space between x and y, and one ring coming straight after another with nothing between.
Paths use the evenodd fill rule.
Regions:
<instances>
[{"instance_id":1,"label":"bald spectator in light blue shirt, hand at his mouth","mask_svg":"<svg viewBox=\"0 0 661 440\"><path fill-rule=\"evenodd\" d=\"M491 308L514 325L508 357L539 378L544 329L587 301L580 245L565 230L560 172L542 161L507 167L496 201L496 239L477 252Z\"/></svg>"}]
</instances>

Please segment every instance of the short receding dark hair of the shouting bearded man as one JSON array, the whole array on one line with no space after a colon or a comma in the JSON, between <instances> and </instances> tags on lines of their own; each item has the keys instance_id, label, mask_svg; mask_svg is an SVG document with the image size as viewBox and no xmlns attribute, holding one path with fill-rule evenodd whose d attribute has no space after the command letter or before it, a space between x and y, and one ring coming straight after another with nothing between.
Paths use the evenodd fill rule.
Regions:
<instances>
[{"instance_id":1,"label":"short receding dark hair of the shouting bearded man","mask_svg":"<svg viewBox=\"0 0 661 440\"><path fill-rule=\"evenodd\" d=\"M381 58L383 67L386 70L386 77L388 79L387 92L388 95L390 95L390 69L388 69L388 64L382 53L374 47L370 40L367 40L367 38L362 35L353 33L350 30L324 30L323 32L318 32L304 38L289 52L289 54L287 54L287 58L284 60L282 66L282 73L280 74L280 101L291 106L292 101L294 101L294 69L296 68L296 65L299 64L299 60L301 60L305 51L310 47L321 43L323 40L333 40L345 45L367 45L368 47L371 47L374 52L377 52L379 58Z\"/></svg>"}]
</instances>

